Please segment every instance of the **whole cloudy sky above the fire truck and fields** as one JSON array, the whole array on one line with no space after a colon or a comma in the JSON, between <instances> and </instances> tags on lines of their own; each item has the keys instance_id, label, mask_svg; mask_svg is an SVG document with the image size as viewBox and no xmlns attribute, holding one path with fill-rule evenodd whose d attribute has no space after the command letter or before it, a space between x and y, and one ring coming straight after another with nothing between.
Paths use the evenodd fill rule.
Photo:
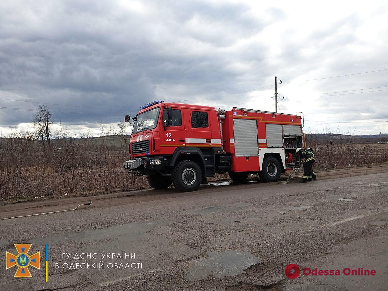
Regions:
<instances>
[{"instance_id":1,"label":"whole cloudy sky above the fire truck and fields","mask_svg":"<svg viewBox=\"0 0 388 291\"><path fill-rule=\"evenodd\" d=\"M274 111L278 76L307 132L385 133L386 19L386 1L1 1L0 132L39 102L93 135L153 100Z\"/></svg>"}]
</instances>

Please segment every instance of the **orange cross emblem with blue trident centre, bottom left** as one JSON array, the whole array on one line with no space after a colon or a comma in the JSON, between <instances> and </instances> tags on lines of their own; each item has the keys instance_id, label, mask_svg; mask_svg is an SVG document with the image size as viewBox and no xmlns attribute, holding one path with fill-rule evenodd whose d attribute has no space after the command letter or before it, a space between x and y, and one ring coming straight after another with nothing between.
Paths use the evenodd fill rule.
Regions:
<instances>
[{"instance_id":1,"label":"orange cross emblem with blue trident centre, bottom left","mask_svg":"<svg viewBox=\"0 0 388 291\"><path fill-rule=\"evenodd\" d=\"M14 266L17 267L14 277L32 277L28 270L29 266L39 269L40 252L33 255L28 255L28 251L32 244L14 244L17 255L7 252L7 270Z\"/></svg>"}]
</instances>

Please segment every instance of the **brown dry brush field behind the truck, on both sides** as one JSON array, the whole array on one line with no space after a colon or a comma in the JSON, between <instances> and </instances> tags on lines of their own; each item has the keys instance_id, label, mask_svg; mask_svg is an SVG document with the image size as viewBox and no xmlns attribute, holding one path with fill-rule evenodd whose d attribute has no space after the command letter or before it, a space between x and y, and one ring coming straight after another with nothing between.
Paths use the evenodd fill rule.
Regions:
<instances>
[{"instance_id":1,"label":"brown dry brush field behind the truck, on both sides","mask_svg":"<svg viewBox=\"0 0 388 291\"><path fill-rule=\"evenodd\" d=\"M388 144L355 143L309 135L316 169L333 169L388 162ZM62 132L52 144L42 144L28 133L2 139L0 199L39 199L42 196L76 196L147 187L145 177L128 175L125 139L119 136L73 139ZM217 175L210 180L227 179Z\"/></svg>"}]
</instances>

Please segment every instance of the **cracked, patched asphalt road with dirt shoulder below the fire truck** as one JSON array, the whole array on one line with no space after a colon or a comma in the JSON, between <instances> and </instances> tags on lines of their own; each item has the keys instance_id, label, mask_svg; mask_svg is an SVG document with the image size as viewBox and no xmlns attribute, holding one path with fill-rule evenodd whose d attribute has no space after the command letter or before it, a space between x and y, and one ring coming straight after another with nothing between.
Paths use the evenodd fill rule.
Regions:
<instances>
[{"instance_id":1,"label":"cracked, patched asphalt road with dirt shoulder below the fire truck","mask_svg":"<svg viewBox=\"0 0 388 291\"><path fill-rule=\"evenodd\" d=\"M28 267L32 278L1 268L0 290L386 290L386 168L353 177L339 171L307 184L222 182L184 194L146 189L3 205L0 216L10 217L94 200L75 211L0 220L3 266L6 251L16 254L14 243L41 253L40 270ZM97 255L74 260L85 253ZM102 258L106 253L135 255ZM86 268L92 263L104 268ZM290 263L300 267L296 279L284 273ZM305 275L305 268L340 275ZM376 275L344 275L345 268Z\"/></svg>"}]
</instances>

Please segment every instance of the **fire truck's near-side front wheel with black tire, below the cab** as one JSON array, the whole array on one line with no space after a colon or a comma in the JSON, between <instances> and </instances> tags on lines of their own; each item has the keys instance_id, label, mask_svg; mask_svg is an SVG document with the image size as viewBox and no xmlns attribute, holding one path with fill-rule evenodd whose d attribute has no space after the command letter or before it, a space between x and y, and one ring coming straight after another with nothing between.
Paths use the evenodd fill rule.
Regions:
<instances>
[{"instance_id":1,"label":"fire truck's near-side front wheel with black tire, below the cab","mask_svg":"<svg viewBox=\"0 0 388 291\"><path fill-rule=\"evenodd\" d=\"M172 183L181 192L196 191L202 180L202 171L196 162L185 160L175 165Z\"/></svg>"}]
</instances>

